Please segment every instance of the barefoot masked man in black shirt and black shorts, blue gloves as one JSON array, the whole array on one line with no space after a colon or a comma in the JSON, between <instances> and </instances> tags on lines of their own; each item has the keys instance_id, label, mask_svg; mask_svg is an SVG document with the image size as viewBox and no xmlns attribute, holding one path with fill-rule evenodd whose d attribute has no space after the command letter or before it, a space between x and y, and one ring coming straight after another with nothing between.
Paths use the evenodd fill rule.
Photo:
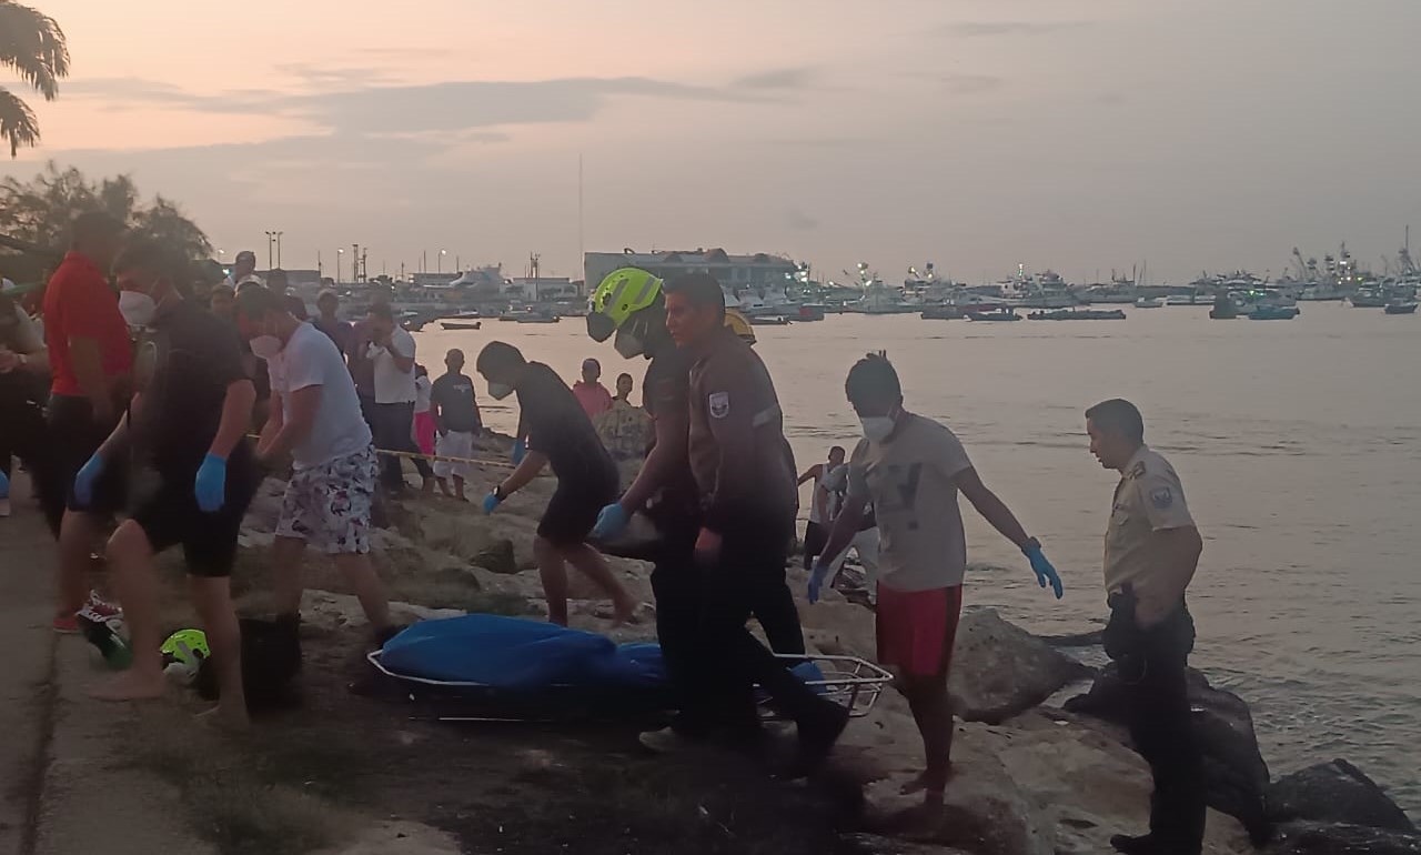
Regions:
<instances>
[{"instance_id":1,"label":"barefoot masked man in black shirt and black shorts, blue gloves","mask_svg":"<svg viewBox=\"0 0 1421 855\"><path fill-rule=\"evenodd\" d=\"M135 244L114 271L125 318L129 325L149 327L152 337L139 348L126 418L74 480L74 497L82 506L98 490L121 489L129 462L134 467L128 479L134 511L107 550L134 663L92 695L104 700L162 695L153 555L180 544L188 589L217 670L217 714L240 727L247 709L229 575L242 516L257 484L252 447L243 437L256 389L243 371L236 332L179 294L182 258L156 244Z\"/></svg>"}]
</instances>

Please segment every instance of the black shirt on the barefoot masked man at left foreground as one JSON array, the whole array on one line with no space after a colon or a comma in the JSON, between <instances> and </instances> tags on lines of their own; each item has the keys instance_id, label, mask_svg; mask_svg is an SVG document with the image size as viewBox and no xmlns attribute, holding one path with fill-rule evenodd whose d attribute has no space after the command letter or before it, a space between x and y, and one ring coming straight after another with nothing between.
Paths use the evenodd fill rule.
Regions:
<instances>
[{"instance_id":1,"label":"black shirt on the barefoot masked man at left foreground","mask_svg":"<svg viewBox=\"0 0 1421 855\"><path fill-rule=\"evenodd\" d=\"M162 311L152 335L139 344L135 379L142 402L131 439L139 460L159 473L186 477L212 447L227 386L249 378L237 331L183 300ZM232 457L249 453L243 440Z\"/></svg>"}]
</instances>

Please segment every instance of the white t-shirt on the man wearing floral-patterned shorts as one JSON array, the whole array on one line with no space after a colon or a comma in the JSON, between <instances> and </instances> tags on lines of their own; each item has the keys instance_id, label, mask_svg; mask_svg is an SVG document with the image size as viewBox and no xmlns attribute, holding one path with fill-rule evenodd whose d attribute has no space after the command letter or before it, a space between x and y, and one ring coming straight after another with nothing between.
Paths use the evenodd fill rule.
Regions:
<instances>
[{"instance_id":1,"label":"white t-shirt on the man wearing floral-patterned shorts","mask_svg":"<svg viewBox=\"0 0 1421 855\"><path fill-rule=\"evenodd\" d=\"M362 452L371 445L369 426L360 412L355 381L335 342L324 332L301 324L280 354L267 359L271 392L281 396L290 412L291 393L308 386L321 388L315 423L304 442L291 449L297 469L324 466L337 457Z\"/></svg>"}]
</instances>

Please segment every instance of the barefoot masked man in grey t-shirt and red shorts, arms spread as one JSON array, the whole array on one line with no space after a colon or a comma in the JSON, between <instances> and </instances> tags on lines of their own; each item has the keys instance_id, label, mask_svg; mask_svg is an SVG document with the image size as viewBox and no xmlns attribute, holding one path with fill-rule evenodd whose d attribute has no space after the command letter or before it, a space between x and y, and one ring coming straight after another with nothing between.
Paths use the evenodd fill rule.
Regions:
<instances>
[{"instance_id":1,"label":"barefoot masked man in grey t-shirt and red shorts, arms spread","mask_svg":"<svg viewBox=\"0 0 1421 855\"><path fill-rule=\"evenodd\" d=\"M989 490L962 443L944 425L902 408L898 372L887 356L871 354L848 372L848 403L858 413L864 439L848 464L848 494L810 575L810 602L837 557L858 531L870 503L878 517L878 659L898 676L922 734L926 770L904 787L942 800L952 754L948 669L962 608L966 538L958 493L1030 560L1036 578L1061 595L1056 568L1042 545Z\"/></svg>"}]
</instances>

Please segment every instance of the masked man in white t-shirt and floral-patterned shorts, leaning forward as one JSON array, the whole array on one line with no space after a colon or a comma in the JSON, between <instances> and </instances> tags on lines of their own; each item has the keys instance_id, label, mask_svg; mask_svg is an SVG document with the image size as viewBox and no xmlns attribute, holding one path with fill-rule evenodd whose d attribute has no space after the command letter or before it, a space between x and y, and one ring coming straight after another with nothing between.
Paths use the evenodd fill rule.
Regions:
<instances>
[{"instance_id":1,"label":"masked man in white t-shirt and floral-patterned shorts, leaning forward","mask_svg":"<svg viewBox=\"0 0 1421 855\"><path fill-rule=\"evenodd\" d=\"M379 463L361 419L355 383L335 342L297 321L286 298L263 287L237 295L237 322L271 375L271 413L257 453L293 460L271 561L277 615L298 621L307 544L335 561L377 638L389 632L389 599L369 562L369 514Z\"/></svg>"}]
</instances>

